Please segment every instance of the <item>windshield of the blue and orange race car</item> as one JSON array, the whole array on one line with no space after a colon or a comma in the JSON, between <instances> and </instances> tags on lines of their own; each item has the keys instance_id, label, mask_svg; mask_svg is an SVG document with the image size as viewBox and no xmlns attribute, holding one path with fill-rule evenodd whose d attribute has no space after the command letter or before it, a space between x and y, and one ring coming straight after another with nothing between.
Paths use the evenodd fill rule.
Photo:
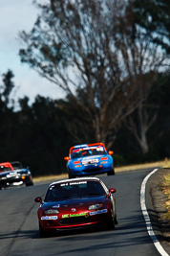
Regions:
<instances>
[{"instance_id":1,"label":"windshield of the blue and orange race car","mask_svg":"<svg viewBox=\"0 0 170 256\"><path fill-rule=\"evenodd\" d=\"M72 151L72 158L86 157L91 155L102 155L106 154L103 146L87 147L75 149Z\"/></svg>"}]
</instances>

